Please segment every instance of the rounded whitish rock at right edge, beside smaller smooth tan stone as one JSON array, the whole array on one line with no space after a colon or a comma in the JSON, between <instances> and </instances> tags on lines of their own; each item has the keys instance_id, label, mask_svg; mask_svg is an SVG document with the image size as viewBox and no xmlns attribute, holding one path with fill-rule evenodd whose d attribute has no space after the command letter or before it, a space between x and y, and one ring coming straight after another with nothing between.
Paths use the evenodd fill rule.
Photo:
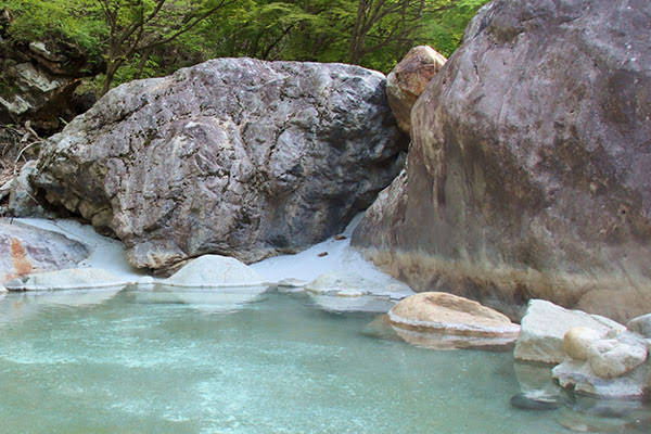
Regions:
<instances>
[{"instance_id":1,"label":"rounded whitish rock at right edge, beside smaller smooth tan stone","mask_svg":"<svg viewBox=\"0 0 651 434\"><path fill-rule=\"evenodd\" d=\"M630 372L647 360L647 344L625 343L620 340L601 340L588 349L588 361L595 374L614 379Z\"/></svg>"}]
</instances>

